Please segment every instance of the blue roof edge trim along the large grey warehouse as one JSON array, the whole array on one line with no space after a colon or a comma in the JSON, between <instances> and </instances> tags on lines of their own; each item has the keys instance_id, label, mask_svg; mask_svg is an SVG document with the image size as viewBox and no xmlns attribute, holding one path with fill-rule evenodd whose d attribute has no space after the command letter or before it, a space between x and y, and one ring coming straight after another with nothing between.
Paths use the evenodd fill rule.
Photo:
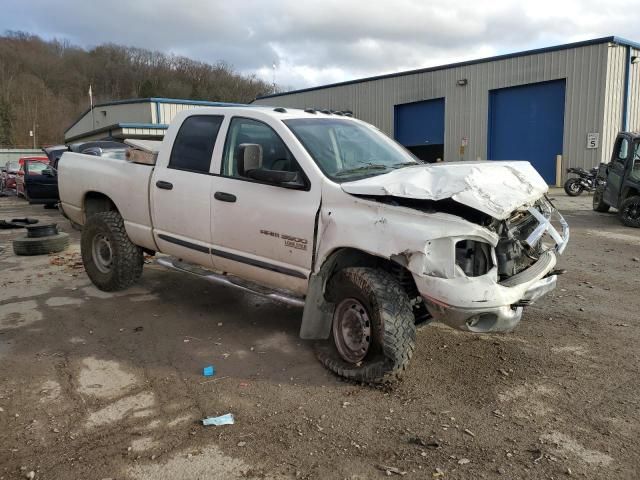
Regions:
<instances>
[{"instance_id":1,"label":"blue roof edge trim along the large grey warehouse","mask_svg":"<svg viewBox=\"0 0 640 480\"><path fill-rule=\"evenodd\" d=\"M562 45L553 45L550 47L542 47L542 48L535 48L532 50L524 50L521 52L514 52L514 53L505 53L502 55L495 55L492 57L485 57L485 58L479 58L476 60L465 60L462 62L455 62L455 63L449 63L449 64L444 64L444 65L437 65L434 67L426 67L426 68L418 68L415 70L405 70L402 72L396 72L396 73L386 73L383 75L374 75L372 77L364 77L364 78L357 78L354 80L347 80L344 82L337 82L337 83L330 83L327 85L320 85L317 87L308 87L308 88L301 88L299 90L290 90L288 92L282 92L282 93L273 93L271 95L263 95L260 97L256 97L255 100L263 100L266 98L277 98L277 97L282 97L285 95L292 95L295 93L305 93L305 92L312 92L312 91L316 91L316 90L324 90L326 88L333 88L333 87L343 87L346 85L353 85L355 83L365 83L365 82L372 82L372 81L376 81L376 80L383 80L386 78L394 78L394 77L404 77L407 75L415 75L415 74L419 74L419 73L429 73L429 72L435 72L438 70L447 70L450 68L459 68L459 67L466 67L466 66L470 66L470 65L477 65L480 63L487 63L487 62L494 62L494 61L498 61L498 60L506 60L509 58L516 58L516 57L525 57L525 56L529 56L529 55L537 55L540 53L547 53L547 52L555 52L555 51L560 51L560 50L568 50L570 48L580 48L580 47L588 47L590 45L598 45L601 43L618 43L621 45L628 45L628 46L632 46L634 48L640 48L640 44L636 43L636 42L632 42L630 40L626 40L624 38L621 37L615 37L615 36L608 36L608 37L600 37L600 38L593 38L590 40L581 40L579 42L572 42L572 43L565 43ZM255 101L253 100L253 101Z\"/></svg>"}]
</instances>

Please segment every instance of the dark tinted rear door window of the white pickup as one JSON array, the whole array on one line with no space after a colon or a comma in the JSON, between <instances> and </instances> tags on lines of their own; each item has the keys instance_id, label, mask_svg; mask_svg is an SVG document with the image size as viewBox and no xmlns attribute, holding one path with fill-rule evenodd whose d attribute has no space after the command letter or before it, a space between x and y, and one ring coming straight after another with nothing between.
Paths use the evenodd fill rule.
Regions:
<instances>
[{"instance_id":1,"label":"dark tinted rear door window of the white pickup","mask_svg":"<svg viewBox=\"0 0 640 480\"><path fill-rule=\"evenodd\" d=\"M173 142L169 168L209 173L213 147L223 118L222 115L187 117Z\"/></svg>"}]
</instances>

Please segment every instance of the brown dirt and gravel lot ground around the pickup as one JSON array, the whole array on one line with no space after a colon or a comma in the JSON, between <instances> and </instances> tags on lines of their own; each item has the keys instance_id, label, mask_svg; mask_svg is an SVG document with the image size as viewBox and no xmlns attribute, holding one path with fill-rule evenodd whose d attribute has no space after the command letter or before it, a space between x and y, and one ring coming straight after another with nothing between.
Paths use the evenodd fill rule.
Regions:
<instances>
[{"instance_id":1,"label":"brown dirt and gravel lot ground around the pickup","mask_svg":"<svg viewBox=\"0 0 640 480\"><path fill-rule=\"evenodd\" d=\"M100 292L68 222L0 198L0 219L74 239L16 257L0 230L0 479L638 478L640 232L554 195L572 227L556 292L511 334L421 329L386 390L326 372L298 309L153 264Z\"/></svg>"}]
</instances>

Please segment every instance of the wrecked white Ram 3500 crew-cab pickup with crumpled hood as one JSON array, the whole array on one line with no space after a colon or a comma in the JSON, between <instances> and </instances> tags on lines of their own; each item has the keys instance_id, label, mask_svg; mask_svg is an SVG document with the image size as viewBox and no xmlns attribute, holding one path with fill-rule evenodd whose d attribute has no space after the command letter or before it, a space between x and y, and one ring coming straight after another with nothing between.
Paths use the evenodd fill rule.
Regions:
<instances>
[{"instance_id":1,"label":"wrecked white Ram 3500 crew-cab pickup with crumpled hood","mask_svg":"<svg viewBox=\"0 0 640 480\"><path fill-rule=\"evenodd\" d=\"M167 267L304 307L300 336L357 381L401 375L419 324L513 329L555 287L569 238L529 163L423 164L340 112L194 109L146 148L146 163L60 161L93 283L125 289L143 252L166 254Z\"/></svg>"}]
</instances>

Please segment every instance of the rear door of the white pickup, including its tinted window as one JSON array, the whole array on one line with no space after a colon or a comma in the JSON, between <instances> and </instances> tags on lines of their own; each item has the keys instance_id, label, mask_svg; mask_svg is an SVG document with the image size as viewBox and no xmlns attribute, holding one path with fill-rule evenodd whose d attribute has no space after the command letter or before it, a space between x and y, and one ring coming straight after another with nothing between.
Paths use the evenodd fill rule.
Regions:
<instances>
[{"instance_id":1,"label":"rear door of the white pickup, including its tinted window","mask_svg":"<svg viewBox=\"0 0 640 480\"><path fill-rule=\"evenodd\" d=\"M222 115L187 117L168 159L158 159L151 180L156 244L164 253L212 266L211 160Z\"/></svg>"}]
</instances>

